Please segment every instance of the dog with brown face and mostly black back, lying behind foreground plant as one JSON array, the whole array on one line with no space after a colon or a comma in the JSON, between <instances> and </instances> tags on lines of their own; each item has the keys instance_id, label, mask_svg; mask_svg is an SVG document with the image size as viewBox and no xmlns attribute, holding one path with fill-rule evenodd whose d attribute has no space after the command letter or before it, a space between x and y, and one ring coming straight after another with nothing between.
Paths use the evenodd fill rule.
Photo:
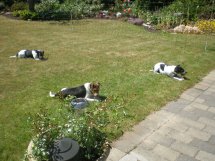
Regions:
<instances>
[{"instance_id":1,"label":"dog with brown face and mostly black back, lying behind foreground plant","mask_svg":"<svg viewBox=\"0 0 215 161\"><path fill-rule=\"evenodd\" d=\"M49 92L50 97L66 98L67 96L75 96L76 98L85 98L87 101L98 101L100 83L85 83L78 87L62 88L59 92Z\"/></svg>"}]
</instances>

